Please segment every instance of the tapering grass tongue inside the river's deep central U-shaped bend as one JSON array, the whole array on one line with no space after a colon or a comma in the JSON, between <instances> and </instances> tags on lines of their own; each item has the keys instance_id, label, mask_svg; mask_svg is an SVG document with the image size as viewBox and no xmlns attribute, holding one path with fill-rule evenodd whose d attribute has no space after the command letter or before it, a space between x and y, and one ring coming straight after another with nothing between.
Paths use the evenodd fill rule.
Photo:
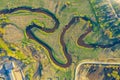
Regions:
<instances>
[{"instance_id":1,"label":"tapering grass tongue inside the river's deep central U-shaped bend","mask_svg":"<svg viewBox=\"0 0 120 80\"><path fill-rule=\"evenodd\" d=\"M40 34L39 32L36 31L35 34L36 36L38 36L38 38L47 43L54 50L53 55L54 57L56 57L56 60L60 61L61 63L63 62L66 63L66 58L64 58L63 51L61 50L62 47L59 43L59 36L57 36L58 35L57 33L55 35L52 34L50 36L48 34L46 35Z\"/></svg>"}]
</instances>

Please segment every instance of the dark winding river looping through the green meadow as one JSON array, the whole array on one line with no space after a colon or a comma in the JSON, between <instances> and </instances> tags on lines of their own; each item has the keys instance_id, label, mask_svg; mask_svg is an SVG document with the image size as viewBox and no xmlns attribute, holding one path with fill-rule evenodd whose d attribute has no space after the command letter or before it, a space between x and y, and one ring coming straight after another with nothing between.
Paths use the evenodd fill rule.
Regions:
<instances>
[{"instance_id":1,"label":"dark winding river looping through the green meadow","mask_svg":"<svg viewBox=\"0 0 120 80\"><path fill-rule=\"evenodd\" d=\"M27 11L30 11L30 12L36 12L36 13L43 13L43 14L46 14L48 15L49 17L51 17L54 22L55 22L55 25L53 26L53 28L44 28L42 26L38 26L36 25L35 23L32 23L30 24L29 26L26 26L26 34L27 36L30 38L30 39L33 39L35 41L37 41L39 44L41 44L43 47L45 47L47 49L47 51L49 52L49 57L50 59L54 62L54 64L60 66L60 67L69 67L72 63L72 57L71 55L68 53L68 50L67 50L67 47L66 47L66 44L64 42L64 35L66 33L66 31L74 24L76 23L77 21L79 21L80 19L83 19L85 21L90 21L92 24L96 24L94 21L92 21L91 19L87 18L87 17L81 17L81 16L76 16L76 17L73 17L69 23L67 25L65 25L63 31L61 32L61 35L60 35L60 43L61 43L61 46L62 46L62 50L64 52L64 55L67 59L67 62L65 64L62 64L60 62L58 62L54 56L53 56L53 50L52 48L46 44L44 41L40 40L37 36L35 36L35 34L32 32L32 29L33 28L38 28L46 33L53 33L56 29L58 29L59 27L59 20L56 18L56 16L51 13L49 10L47 9L44 9L44 8L36 8L36 9L33 9L31 7L17 7L17 8L13 8L13 9L4 9L4 10L1 10L0 11L0 14L11 14L13 12L16 12L16 11L19 11L19 10L27 10ZM86 44L84 42L84 38L92 31L92 27L88 27L88 29L85 31L85 33L83 33L77 43L79 46L83 46L83 47L86 47L86 48L94 48L94 47L100 47L100 48L110 48L118 43L120 43L120 40L114 42L113 44L106 44L106 45L97 45L97 44Z\"/></svg>"}]
</instances>

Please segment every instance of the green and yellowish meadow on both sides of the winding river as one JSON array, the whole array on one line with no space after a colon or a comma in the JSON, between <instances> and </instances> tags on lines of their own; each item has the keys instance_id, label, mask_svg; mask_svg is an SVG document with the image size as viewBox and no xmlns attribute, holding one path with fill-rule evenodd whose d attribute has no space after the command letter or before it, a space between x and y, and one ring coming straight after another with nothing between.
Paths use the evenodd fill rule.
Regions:
<instances>
[{"instance_id":1,"label":"green and yellowish meadow on both sides of the winding river","mask_svg":"<svg viewBox=\"0 0 120 80\"><path fill-rule=\"evenodd\" d=\"M59 20L59 28L53 33L46 33L40 29L33 28L32 32L37 38L44 41L52 49L52 54L57 62L65 64L67 59L62 50L62 45L60 43L60 35L65 28L65 26L70 22L70 20L75 16L87 16L94 22L96 22L95 14L89 4L89 0L1 0L0 1L0 10L2 9L11 9L20 6L28 6L31 8L45 8L48 11L52 12L56 18ZM16 59L19 59L26 65L23 69L25 76L28 80L47 80L47 79L58 79L58 80L74 80L75 78L75 69L76 66L83 60L95 60L99 61L100 59L106 58L118 58L119 50L115 52L108 52L109 49L102 49L99 47L96 48L86 48L79 46L77 44L78 38L85 33L86 29L89 27L89 22L86 22L83 19L80 19L79 22L73 24L64 35L64 42L67 47L68 53L72 56L72 64L63 68L56 65L49 56L48 51L38 42L29 39L26 35L26 27L32 23L35 23L42 28L53 28L55 22L51 17L43 13L35 13L26 10L20 10L11 14L2 14L0 15L0 25L3 23L12 23L15 27L23 32L23 38L17 43L9 43L0 38L0 48L3 48L7 51L8 56L12 56ZM2 27L2 26L0 26ZM98 26L93 26L92 32L89 33L84 41L86 43L97 43L101 37L100 31L97 31ZM7 30L2 33L3 36L6 34ZM9 32L9 30L8 30ZM16 34L18 35L18 34ZM18 36L10 36L12 39L18 38ZM9 49L10 45L13 45L13 48L19 48L19 50L14 54L13 51ZM30 47L33 47L37 51L37 57L32 54ZM119 45L116 45L119 46ZM113 54L115 53L115 54ZM108 55L109 54L109 55ZM5 55L0 55L5 56ZM103 60L104 61L104 60ZM42 69L37 73L37 77L34 78L34 73L38 69L38 63L42 65ZM32 67L32 68L31 68ZM41 68L41 67L40 67ZM38 69L39 70L39 69ZM41 75L42 74L42 75Z\"/></svg>"}]
</instances>

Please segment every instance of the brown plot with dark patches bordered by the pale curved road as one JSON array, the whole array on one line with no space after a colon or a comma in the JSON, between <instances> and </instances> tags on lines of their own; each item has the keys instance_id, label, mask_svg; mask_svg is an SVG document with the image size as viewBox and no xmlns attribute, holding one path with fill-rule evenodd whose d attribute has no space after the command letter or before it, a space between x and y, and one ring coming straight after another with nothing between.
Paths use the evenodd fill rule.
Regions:
<instances>
[{"instance_id":1,"label":"brown plot with dark patches bordered by the pale curved road","mask_svg":"<svg viewBox=\"0 0 120 80\"><path fill-rule=\"evenodd\" d=\"M119 64L84 63L79 66L75 80L119 80L119 70Z\"/></svg>"}]
</instances>

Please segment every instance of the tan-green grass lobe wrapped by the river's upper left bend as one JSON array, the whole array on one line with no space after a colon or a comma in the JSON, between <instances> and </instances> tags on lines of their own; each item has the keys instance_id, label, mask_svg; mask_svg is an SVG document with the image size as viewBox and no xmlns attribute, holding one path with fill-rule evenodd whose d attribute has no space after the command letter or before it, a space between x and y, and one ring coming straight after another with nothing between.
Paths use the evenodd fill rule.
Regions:
<instances>
[{"instance_id":1,"label":"tan-green grass lobe wrapped by the river's upper left bend","mask_svg":"<svg viewBox=\"0 0 120 80\"><path fill-rule=\"evenodd\" d=\"M26 26L32 22L46 28L54 27L54 23L51 17L43 13L32 13L29 11L20 10L12 14L7 14L11 23L16 24L19 28L25 30Z\"/></svg>"}]
</instances>

